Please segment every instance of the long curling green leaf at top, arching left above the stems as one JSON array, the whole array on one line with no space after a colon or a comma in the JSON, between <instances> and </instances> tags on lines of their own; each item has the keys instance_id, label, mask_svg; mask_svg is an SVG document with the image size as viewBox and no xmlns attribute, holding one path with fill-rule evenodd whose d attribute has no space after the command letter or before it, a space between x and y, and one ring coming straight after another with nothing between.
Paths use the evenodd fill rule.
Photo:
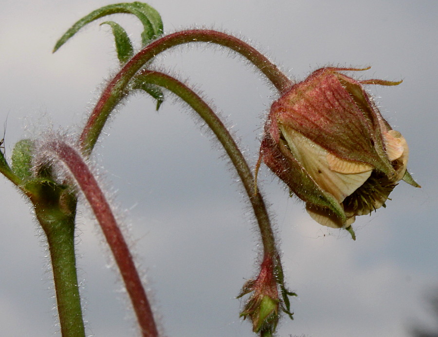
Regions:
<instances>
[{"instance_id":1,"label":"long curling green leaf at top, arching left above the stems","mask_svg":"<svg viewBox=\"0 0 438 337\"><path fill-rule=\"evenodd\" d=\"M77 21L62 37L56 42L53 52L55 53L68 39L75 35L82 27L88 23L105 17L110 14L127 13L133 14L142 22L144 31L142 32L142 45L146 46L152 39L163 34L163 21L160 14L146 3L115 3L104 6Z\"/></svg>"}]
</instances>

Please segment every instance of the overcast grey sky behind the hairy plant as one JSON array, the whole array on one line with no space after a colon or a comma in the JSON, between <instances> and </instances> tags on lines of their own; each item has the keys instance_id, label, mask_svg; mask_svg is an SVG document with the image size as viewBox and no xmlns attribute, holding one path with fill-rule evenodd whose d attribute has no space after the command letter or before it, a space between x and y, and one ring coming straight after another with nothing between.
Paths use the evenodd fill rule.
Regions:
<instances>
[{"instance_id":1,"label":"overcast grey sky behind the hairy plant","mask_svg":"<svg viewBox=\"0 0 438 337\"><path fill-rule=\"evenodd\" d=\"M57 53L55 41L107 0L1 0L0 133L5 150L47 128L77 132L104 78L118 69L109 27L93 23ZM408 168L386 209L359 217L357 241L316 224L266 169L260 188L280 237L286 280L298 293L294 320L278 336L410 336L434 327L428 298L438 294L438 2L406 0L151 0L164 30L214 27L251 41L288 75L304 79L327 65L372 69L355 75L403 79L369 86L383 116L406 138ZM116 16L138 43L134 18ZM102 20L103 21L103 20ZM138 44L137 44L138 46ZM277 98L240 57L204 45L176 48L154 63L214 102L254 165L263 117ZM234 299L256 276L258 237L242 188L223 151L180 101L157 113L131 97L95 149L99 173L118 205L137 262L147 275L165 336L253 336ZM194 123L195 122L195 123ZM3 181L4 180L4 181ZM59 336L44 238L29 205L0 183L2 336ZM78 214L78 266L87 334L137 336L109 249L86 208ZM436 318L435 318L436 319ZM437 328L435 326L435 328Z\"/></svg>"}]
</instances>

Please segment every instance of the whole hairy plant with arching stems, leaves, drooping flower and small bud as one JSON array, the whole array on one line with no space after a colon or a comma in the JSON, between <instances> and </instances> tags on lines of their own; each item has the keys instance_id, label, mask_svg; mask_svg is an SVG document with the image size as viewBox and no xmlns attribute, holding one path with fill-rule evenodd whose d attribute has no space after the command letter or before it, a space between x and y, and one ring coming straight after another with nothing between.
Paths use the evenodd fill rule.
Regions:
<instances>
[{"instance_id":1,"label":"whole hairy plant with arching stems, leaves, drooping flower and small bud","mask_svg":"<svg viewBox=\"0 0 438 337\"><path fill-rule=\"evenodd\" d=\"M128 247L86 164L86 157L124 97L141 89L157 100L158 109L164 99L161 88L165 88L180 96L212 129L248 194L260 231L263 255L258 276L248 281L239 295L250 294L240 316L251 319L253 331L261 337L273 336L280 310L292 319L289 296L295 294L286 289L277 242L263 198L257 191L253 193L256 179L214 111L185 84L148 69L150 62L159 53L189 42L217 43L252 62L281 95L272 105L265 125L256 172L263 160L293 194L306 202L313 219L328 227L345 228L353 239L351 224L356 216L385 207L389 194L400 180L420 187L406 170L409 155L406 141L392 130L363 89L365 84L391 86L400 82L357 81L341 71L358 69L324 68L292 86L268 58L232 35L195 29L163 36L158 12L137 1L108 5L91 12L58 40L54 51L83 26L115 13L130 13L140 19L144 26L142 50L134 54L129 36L120 25L113 21L102 23L112 29L122 68L103 90L77 144L70 146L54 137L38 148L42 154L35 154L34 142L22 140L14 148L12 166L0 151L0 172L32 201L36 217L47 235L62 335L85 336L74 252L77 205L74 186L78 186L90 202L114 253L142 335L158 336ZM43 158L40 167L33 165L35 157ZM47 159L63 163L71 176L58 181Z\"/></svg>"}]
</instances>

